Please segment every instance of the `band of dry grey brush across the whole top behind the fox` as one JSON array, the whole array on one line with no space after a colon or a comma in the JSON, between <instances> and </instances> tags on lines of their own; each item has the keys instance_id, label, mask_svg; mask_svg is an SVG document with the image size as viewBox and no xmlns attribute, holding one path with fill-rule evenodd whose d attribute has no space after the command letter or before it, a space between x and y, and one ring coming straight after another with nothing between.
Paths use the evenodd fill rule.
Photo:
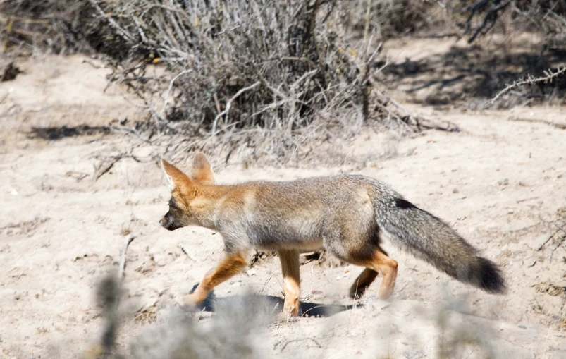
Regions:
<instances>
[{"instance_id":1,"label":"band of dry grey brush across the whole top behind the fox","mask_svg":"<svg viewBox=\"0 0 566 359\"><path fill-rule=\"evenodd\" d=\"M334 152L332 161L340 163L347 156L344 140L364 128L393 126L411 133L446 127L421 126L421 118L386 95L379 83L380 71L389 65L380 58L384 40L426 35L478 42L491 33L539 32L541 53L537 59L527 56L519 71L493 66L505 59L486 56L481 47L470 50L479 61L455 54L440 66L433 59L416 64L417 71L452 70L452 77L435 72L417 88L443 87L471 76L471 88L459 93L486 102L503 89L502 83L563 66L565 4L8 0L0 6L0 22L5 50L109 56L110 84L135 93L147 113L142 120L113 123L113 128L143 142L166 143L162 152L183 157L199 149L222 154L226 163L242 154L270 164L295 164L315 152ZM557 60L550 61L553 56ZM405 68L386 71L392 83L407 76ZM527 80L528 90L519 91L515 87L522 83L515 83L497 106L561 98L563 81L559 76L556 81L549 87ZM427 101L457 99L443 92Z\"/></svg>"}]
</instances>

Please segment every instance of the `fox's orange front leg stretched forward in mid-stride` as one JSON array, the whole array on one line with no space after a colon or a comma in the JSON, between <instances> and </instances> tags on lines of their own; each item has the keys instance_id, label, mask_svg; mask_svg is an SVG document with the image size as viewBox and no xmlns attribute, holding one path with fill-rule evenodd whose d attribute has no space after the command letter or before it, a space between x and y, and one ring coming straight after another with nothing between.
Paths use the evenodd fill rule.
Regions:
<instances>
[{"instance_id":1,"label":"fox's orange front leg stretched forward in mid-stride","mask_svg":"<svg viewBox=\"0 0 566 359\"><path fill-rule=\"evenodd\" d=\"M194 293L183 298L183 305L199 305L207 298L209 293L223 281L230 279L245 268L247 262L245 256L240 252L226 254L220 263L204 274L204 279Z\"/></svg>"}]
</instances>

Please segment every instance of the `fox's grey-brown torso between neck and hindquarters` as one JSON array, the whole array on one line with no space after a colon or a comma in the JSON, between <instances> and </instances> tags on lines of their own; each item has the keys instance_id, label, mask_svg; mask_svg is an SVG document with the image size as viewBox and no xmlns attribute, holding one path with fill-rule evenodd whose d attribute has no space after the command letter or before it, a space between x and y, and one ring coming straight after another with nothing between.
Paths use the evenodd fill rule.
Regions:
<instances>
[{"instance_id":1,"label":"fox's grey-brown torso between neck and hindquarters","mask_svg":"<svg viewBox=\"0 0 566 359\"><path fill-rule=\"evenodd\" d=\"M333 176L249 182L235 187L238 224L258 248L319 248L329 226L374 223L372 178ZM232 200L232 203L234 203Z\"/></svg>"}]
</instances>

